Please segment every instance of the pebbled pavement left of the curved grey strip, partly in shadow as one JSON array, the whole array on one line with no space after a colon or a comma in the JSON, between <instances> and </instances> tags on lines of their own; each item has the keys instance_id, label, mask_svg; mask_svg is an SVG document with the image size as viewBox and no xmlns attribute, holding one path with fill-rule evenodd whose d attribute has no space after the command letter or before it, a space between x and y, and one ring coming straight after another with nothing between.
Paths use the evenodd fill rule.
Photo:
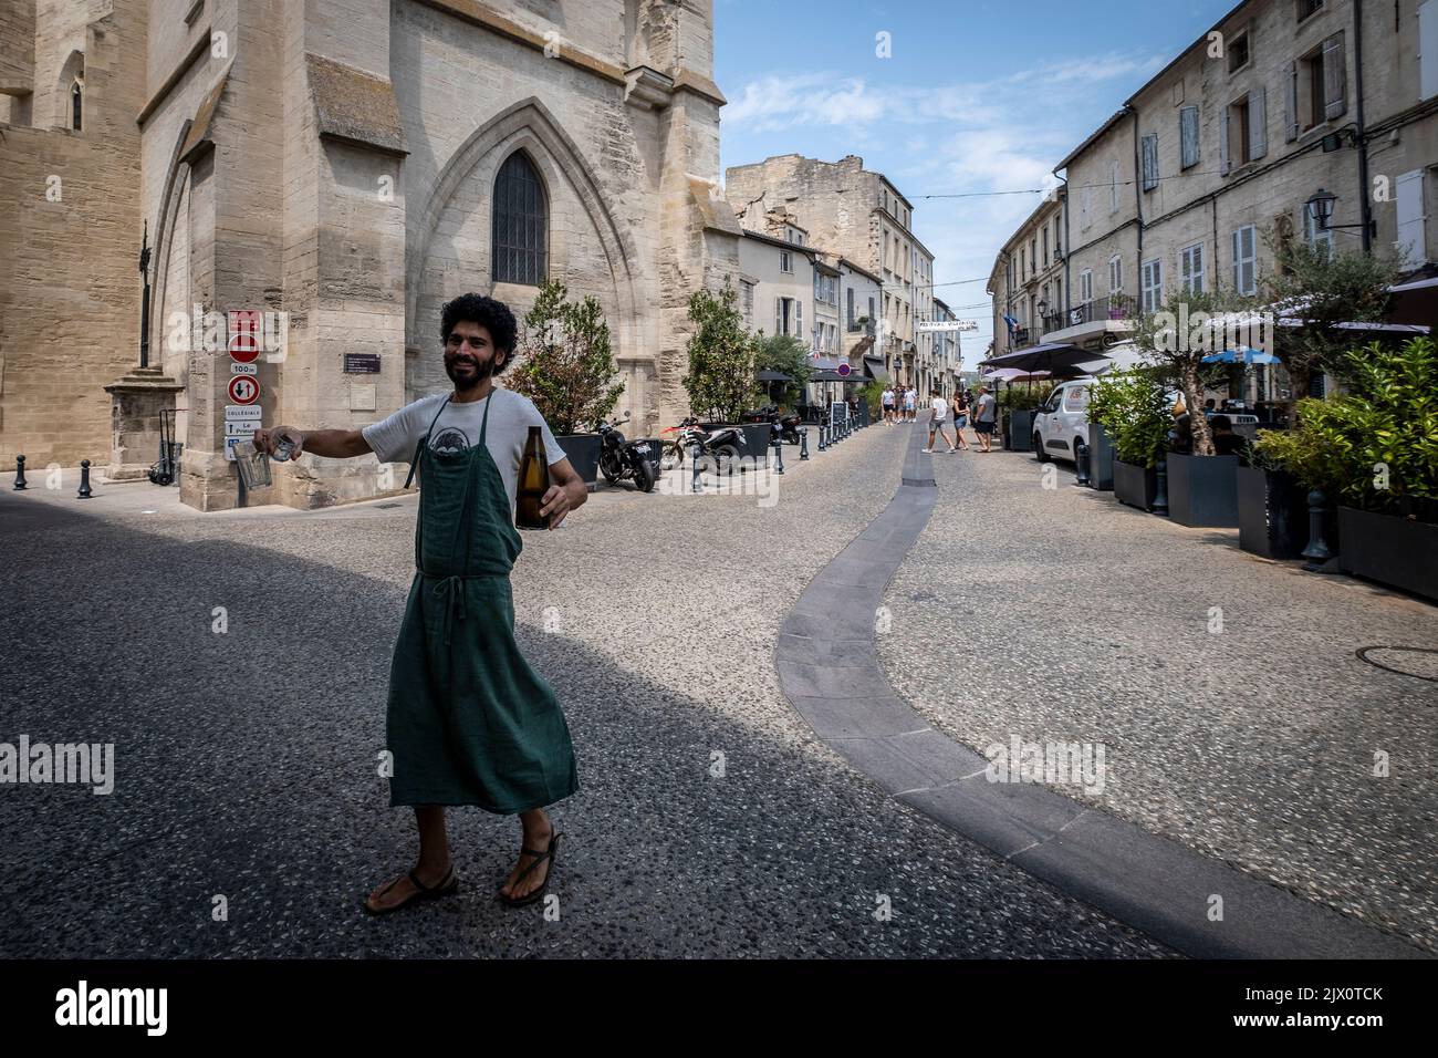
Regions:
<instances>
[{"instance_id":1,"label":"pebbled pavement left of the curved grey strip, partly in shadow","mask_svg":"<svg viewBox=\"0 0 1438 1058\"><path fill-rule=\"evenodd\" d=\"M893 495L907 433L789 449L768 507L601 491L525 534L519 638L580 756L558 921L490 898L518 832L477 809L450 813L456 898L360 911L414 852L377 777L413 498L200 517L0 481L0 740L116 754L109 796L0 787L0 954L1169 954L887 799L779 694L779 623Z\"/></svg>"}]
</instances>

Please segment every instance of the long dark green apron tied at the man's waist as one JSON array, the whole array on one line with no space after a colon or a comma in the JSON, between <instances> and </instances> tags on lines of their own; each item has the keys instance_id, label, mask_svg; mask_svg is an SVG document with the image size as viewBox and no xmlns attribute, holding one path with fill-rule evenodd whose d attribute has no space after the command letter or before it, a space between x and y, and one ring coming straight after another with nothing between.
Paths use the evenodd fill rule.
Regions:
<instances>
[{"instance_id":1,"label":"long dark green apron tied at the man's waist","mask_svg":"<svg viewBox=\"0 0 1438 1058\"><path fill-rule=\"evenodd\" d=\"M509 570L523 544L485 443L489 400L479 443L463 452L430 448L439 417L410 464L417 571L390 668L390 805L515 815L578 789L574 747L554 691L515 642Z\"/></svg>"}]
</instances>

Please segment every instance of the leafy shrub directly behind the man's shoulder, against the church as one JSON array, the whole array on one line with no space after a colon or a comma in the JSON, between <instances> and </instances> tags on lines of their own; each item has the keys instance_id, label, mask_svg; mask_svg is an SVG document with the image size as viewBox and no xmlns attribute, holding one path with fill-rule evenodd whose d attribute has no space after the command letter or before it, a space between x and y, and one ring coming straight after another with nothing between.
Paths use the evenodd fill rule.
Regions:
<instances>
[{"instance_id":1,"label":"leafy shrub directly behind the man's shoulder, against the church","mask_svg":"<svg viewBox=\"0 0 1438 1058\"><path fill-rule=\"evenodd\" d=\"M610 325L594 297L567 301L568 289L546 279L525 314L509 387L529 397L554 430L575 472L594 489L603 439L595 432L624 392L610 344Z\"/></svg>"}]
</instances>

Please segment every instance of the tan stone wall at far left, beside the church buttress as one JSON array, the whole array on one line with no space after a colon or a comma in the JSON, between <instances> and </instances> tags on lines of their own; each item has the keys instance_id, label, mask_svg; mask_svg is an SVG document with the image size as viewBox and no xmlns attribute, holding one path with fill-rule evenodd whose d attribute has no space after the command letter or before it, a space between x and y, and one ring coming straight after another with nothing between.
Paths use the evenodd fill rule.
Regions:
<instances>
[{"instance_id":1,"label":"tan stone wall at far left, beside the church buttress","mask_svg":"<svg viewBox=\"0 0 1438 1058\"><path fill-rule=\"evenodd\" d=\"M145 36L142 0L59 10L42 0L36 96L85 55L83 128L0 138L0 464L109 462L111 402L101 389L138 363L139 137L144 71L124 56ZM14 189L14 193L9 193Z\"/></svg>"}]
</instances>

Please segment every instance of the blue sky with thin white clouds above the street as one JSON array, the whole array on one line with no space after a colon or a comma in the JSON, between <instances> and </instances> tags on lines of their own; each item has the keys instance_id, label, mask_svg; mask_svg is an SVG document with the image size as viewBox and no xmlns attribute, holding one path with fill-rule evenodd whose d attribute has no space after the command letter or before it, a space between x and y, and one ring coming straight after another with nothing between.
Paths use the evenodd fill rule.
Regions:
<instances>
[{"instance_id":1,"label":"blue sky with thin white clouds above the street","mask_svg":"<svg viewBox=\"0 0 1438 1058\"><path fill-rule=\"evenodd\" d=\"M992 338L982 282L1053 167L1237 0L715 0L722 166L858 154L915 204L935 294ZM889 33L890 58L876 55ZM982 308L975 305L982 302Z\"/></svg>"}]
</instances>

